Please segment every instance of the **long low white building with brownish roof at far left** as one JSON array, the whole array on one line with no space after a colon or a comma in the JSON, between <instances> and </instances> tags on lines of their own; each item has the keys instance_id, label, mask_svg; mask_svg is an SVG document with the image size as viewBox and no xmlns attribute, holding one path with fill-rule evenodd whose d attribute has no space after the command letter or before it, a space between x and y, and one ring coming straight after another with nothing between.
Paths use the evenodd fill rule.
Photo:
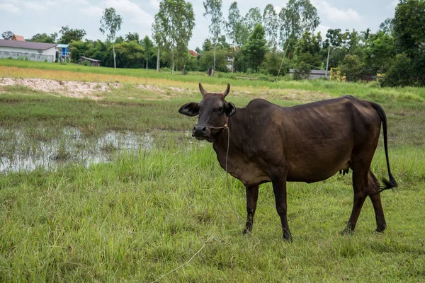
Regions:
<instances>
[{"instance_id":1,"label":"long low white building with brownish roof at far left","mask_svg":"<svg viewBox=\"0 0 425 283\"><path fill-rule=\"evenodd\" d=\"M0 40L0 58L55 62L57 43Z\"/></svg>"}]
</instances>

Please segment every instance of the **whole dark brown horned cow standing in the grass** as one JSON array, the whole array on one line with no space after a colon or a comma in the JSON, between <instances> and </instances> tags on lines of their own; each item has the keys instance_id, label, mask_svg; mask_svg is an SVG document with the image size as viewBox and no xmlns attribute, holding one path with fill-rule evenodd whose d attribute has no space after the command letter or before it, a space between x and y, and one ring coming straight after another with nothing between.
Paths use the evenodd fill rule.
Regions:
<instances>
[{"instance_id":1,"label":"whole dark brown horned cow standing in the grass","mask_svg":"<svg viewBox=\"0 0 425 283\"><path fill-rule=\"evenodd\" d=\"M229 84L224 93L208 93L200 83L199 88L203 95L200 103L187 103L179 112L199 115L193 137L212 142L222 168L227 166L230 175L246 186L248 216L244 233L252 230L260 184L273 184L283 238L290 240L286 182L318 182L348 168L353 171L354 200L343 233L354 231L368 196L375 209L376 231L384 231L379 192L397 187L397 183L390 171L387 118L380 105L344 96L289 108L254 99L245 108L236 108L225 100ZM381 122L390 176L390 181L384 180L382 190L370 170Z\"/></svg>"}]
</instances>

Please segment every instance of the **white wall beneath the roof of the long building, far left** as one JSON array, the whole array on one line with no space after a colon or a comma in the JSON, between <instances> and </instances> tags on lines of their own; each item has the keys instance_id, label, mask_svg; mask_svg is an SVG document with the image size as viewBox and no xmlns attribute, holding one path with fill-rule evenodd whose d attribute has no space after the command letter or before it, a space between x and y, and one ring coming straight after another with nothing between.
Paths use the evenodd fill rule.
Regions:
<instances>
[{"instance_id":1,"label":"white wall beneath the roof of the long building, far left","mask_svg":"<svg viewBox=\"0 0 425 283\"><path fill-rule=\"evenodd\" d=\"M34 49L0 46L0 58L12 57L13 59L18 59L18 57L27 57L30 61L45 61L47 59L47 62L55 62L56 47L41 51L42 53Z\"/></svg>"}]
</instances>

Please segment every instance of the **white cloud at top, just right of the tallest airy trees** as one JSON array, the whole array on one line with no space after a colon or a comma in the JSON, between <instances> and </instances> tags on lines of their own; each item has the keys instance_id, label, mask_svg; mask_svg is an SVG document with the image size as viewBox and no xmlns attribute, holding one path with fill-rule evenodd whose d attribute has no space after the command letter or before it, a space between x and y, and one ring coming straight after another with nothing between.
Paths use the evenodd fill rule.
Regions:
<instances>
[{"instance_id":1,"label":"white cloud at top, just right of the tallest airy trees","mask_svg":"<svg viewBox=\"0 0 425 283\"><path fill-rule=\"evenodd\" d=\"M325 0L312 0L312 4L317 8L320 16L327 18L328 21L361 21L361 16L353 8L336 8Z\"/></svg>"}]
</instances>

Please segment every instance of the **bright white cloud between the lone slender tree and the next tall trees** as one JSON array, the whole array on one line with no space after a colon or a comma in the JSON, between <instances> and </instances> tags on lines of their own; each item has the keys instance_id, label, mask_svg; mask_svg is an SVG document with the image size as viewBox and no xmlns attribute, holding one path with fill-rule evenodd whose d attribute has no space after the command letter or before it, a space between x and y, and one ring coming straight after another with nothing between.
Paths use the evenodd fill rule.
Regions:
<instances>
[{"instance_id":1,"label":"bright white cloud between the lone slender tree and the next tall trees","mask_svg":"<svg viewBox=\"0 0 425 283\"><path fill-rule=\"evenodd\" d=\"M154 17L142 10L139 5L133 3L130 0L106 0L106 6L113 7L121 16L126 15L130 16L130 21L132 23L137 23L140 25L150 26L154 21ZM123 16L123 18L125 18Z\"/></svg>"}]
</instances>

